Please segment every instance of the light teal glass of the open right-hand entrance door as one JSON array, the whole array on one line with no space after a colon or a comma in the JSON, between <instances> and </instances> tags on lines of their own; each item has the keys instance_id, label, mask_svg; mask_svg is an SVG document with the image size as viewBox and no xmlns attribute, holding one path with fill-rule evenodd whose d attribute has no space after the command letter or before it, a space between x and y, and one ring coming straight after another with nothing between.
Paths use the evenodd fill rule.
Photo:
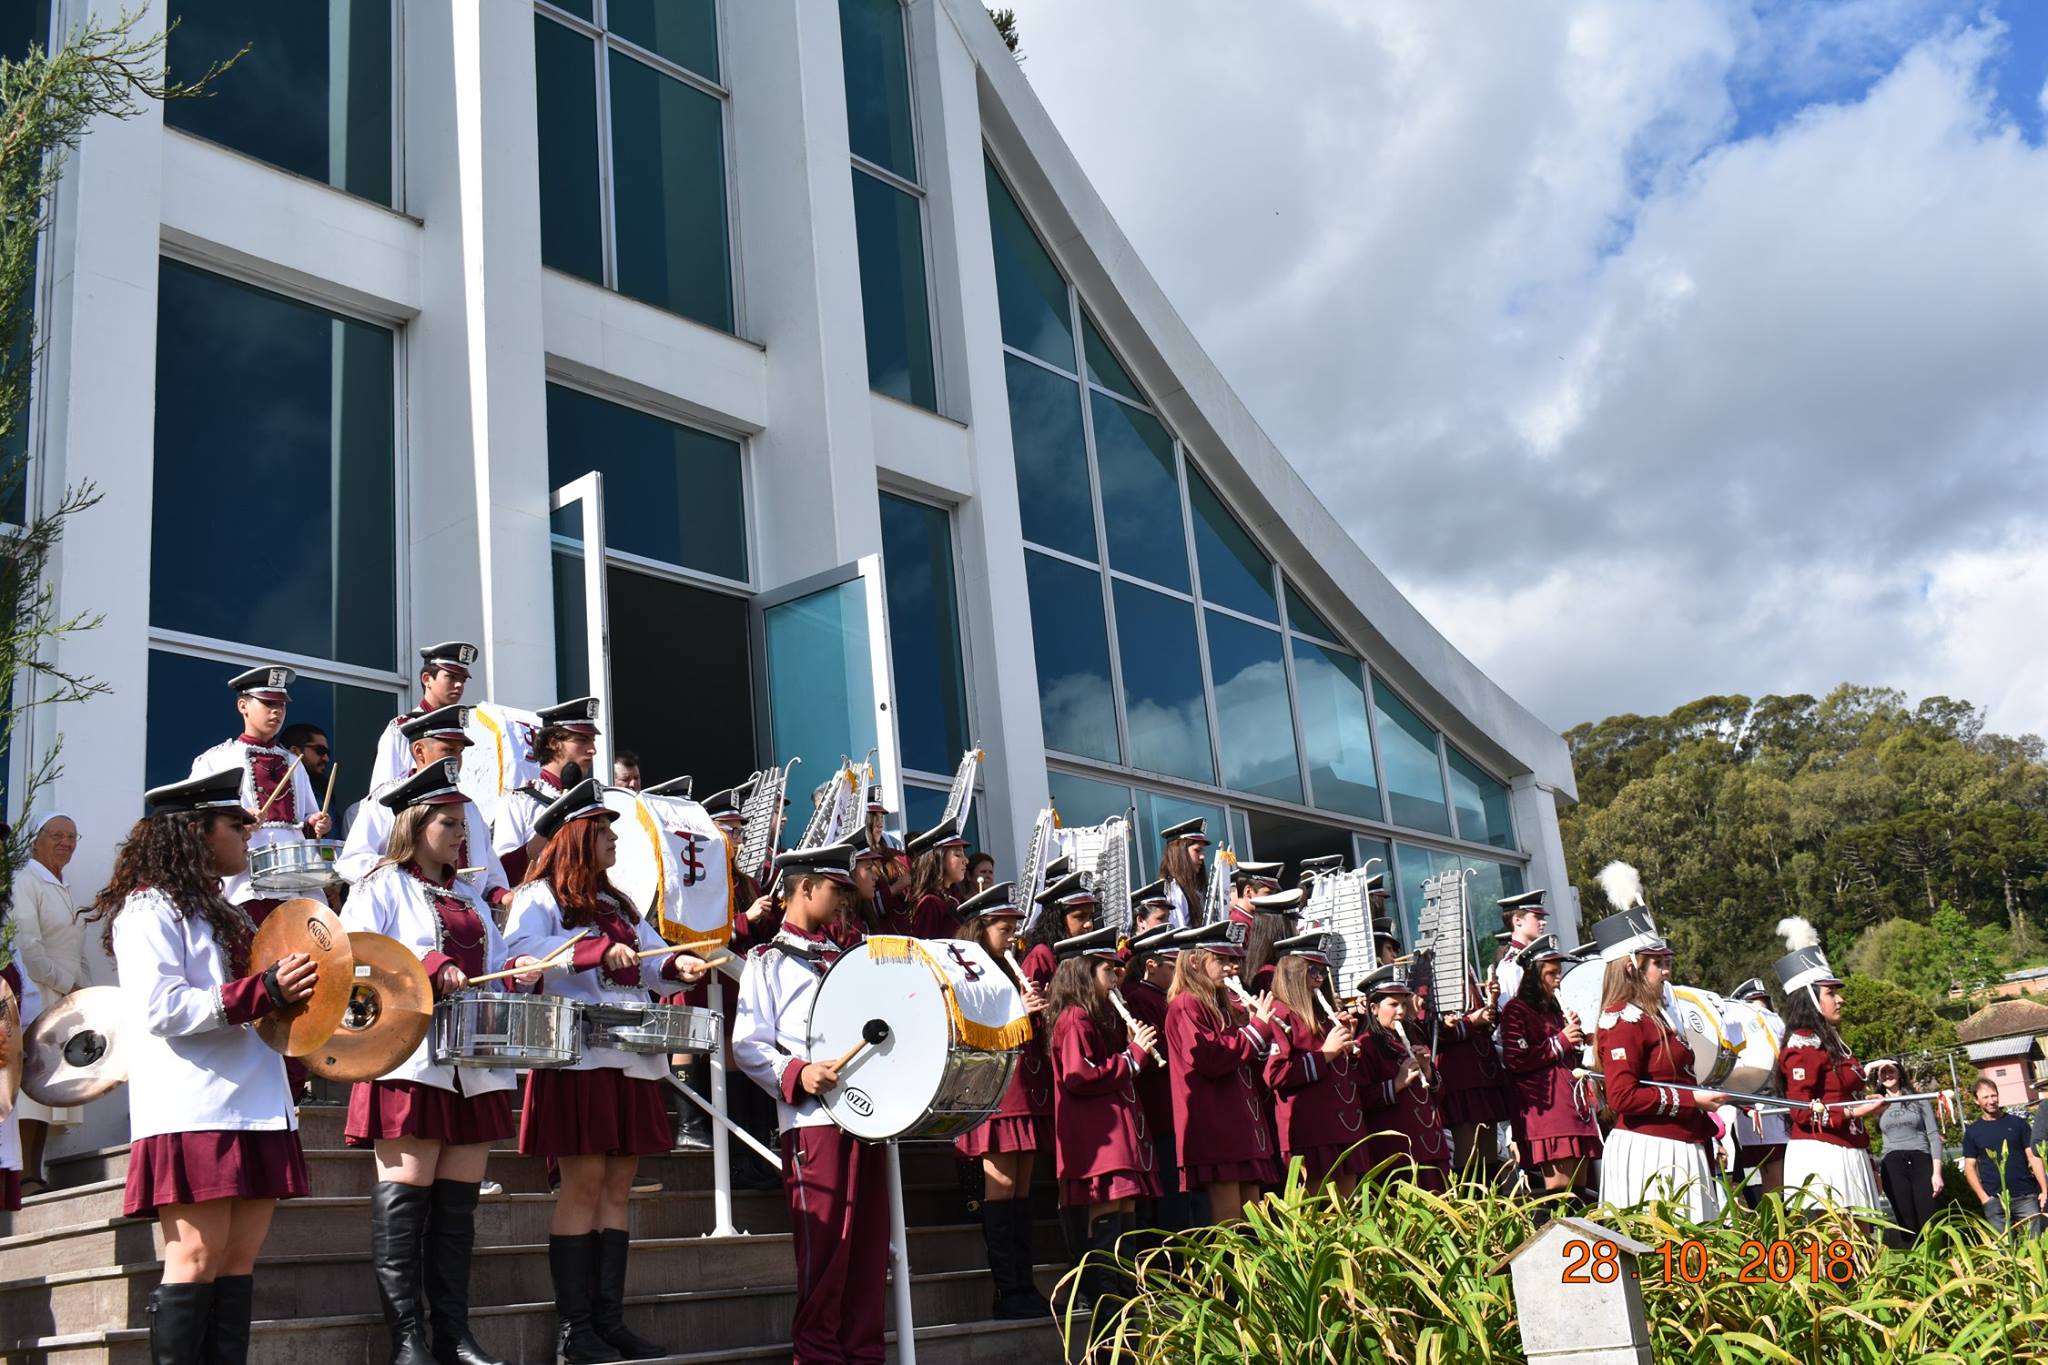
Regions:
<instances>
[{"instance_id":1,"label":"light teal glass of the open right-hand entrance door","mask_svg":"<svg viewBox=\"0 0 2048 1365\"><path fill-rule=\"evenodd\" d=\"M866 589L850 579L762 612L768 659L770 751L829 774L840 757L874 747L874 669ZM786 839L811 819L813 782L788 784Z\"/></svg>"}]
</instances>

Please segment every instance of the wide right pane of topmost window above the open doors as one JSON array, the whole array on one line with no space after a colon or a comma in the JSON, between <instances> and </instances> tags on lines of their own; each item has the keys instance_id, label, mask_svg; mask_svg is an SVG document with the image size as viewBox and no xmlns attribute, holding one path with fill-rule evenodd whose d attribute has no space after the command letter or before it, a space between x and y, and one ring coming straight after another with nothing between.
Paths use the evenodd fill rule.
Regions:
<instances>
[{"instance_id":1,"label":"wide right pane of topmost window above the open doors","mask_svg":"<svg viewBox=\"0 0 2048 1365\"><path fill-rule=\"evenodd\" d=\"M719 100L621 51L610 59L618 293L731 332Z\"/></svg>"}]
</instances>

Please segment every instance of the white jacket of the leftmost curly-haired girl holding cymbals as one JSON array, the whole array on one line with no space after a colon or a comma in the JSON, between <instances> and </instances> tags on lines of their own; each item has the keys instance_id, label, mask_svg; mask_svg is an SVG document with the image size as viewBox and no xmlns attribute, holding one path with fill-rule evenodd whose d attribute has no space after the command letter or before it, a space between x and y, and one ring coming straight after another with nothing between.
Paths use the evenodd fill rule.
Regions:
<instances>
[{"instance_id":1,"label":"white jacket of the leftmost curly-haired girl holding cymbals","mask_svg":"<svg viewBox=\"0 0 2048 1365\"><path fill-rule=\"evenodd\" d=\"M227 1021L227 954L201 915L137 890L115 917L115 970L129 1019L129 1136L276 1132L299 1126L285 1056Z\"/></svg>"}]
</instances>

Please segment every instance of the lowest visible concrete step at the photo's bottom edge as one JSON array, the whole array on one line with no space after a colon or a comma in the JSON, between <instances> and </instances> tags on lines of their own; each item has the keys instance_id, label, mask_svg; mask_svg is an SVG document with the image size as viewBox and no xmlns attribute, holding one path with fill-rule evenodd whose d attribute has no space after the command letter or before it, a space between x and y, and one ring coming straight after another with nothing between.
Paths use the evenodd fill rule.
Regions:
<instances>
[{"instance_id":1,"label":"lowest visible concrete step at the photo's bottom edge","mask_svg":"<svg viewBox=\"0 0 2048 1365\"><path fill-rule=\"evenodd\" d=\"M262 1277L258 1275L258 1285ZM1057 1273L1040 1267L1038 1287L1051 1291ZM987 1271L936 1271L911 1277L911 1312L920 1361L926 1359L926 1328L975 1324L973 1330L932 1332L934 1361L1057 1361L1057 1334L1049 1322L993 1324L989 1316ZM788 1359L791 1314L797 1289L690 1289L676 1293L627 1295L631 1326L653 1340L672 1342L676 1361L768 1361ZM893 1308L891 1308L893 1316ZM508 1361L553 1359L553 1302L473 1308L471 1328L485 1351ZM16 1334L8 1326L0 1351L10 1359L49 1365L150 1365L145 1328L113 1328L76 1334ZM258 1320L250 1336L250 1359L262 1365L381 1365L387 1357L383 1318L377 1314L324 1314L317 1318Z\"/></svg>"}]
</instances>

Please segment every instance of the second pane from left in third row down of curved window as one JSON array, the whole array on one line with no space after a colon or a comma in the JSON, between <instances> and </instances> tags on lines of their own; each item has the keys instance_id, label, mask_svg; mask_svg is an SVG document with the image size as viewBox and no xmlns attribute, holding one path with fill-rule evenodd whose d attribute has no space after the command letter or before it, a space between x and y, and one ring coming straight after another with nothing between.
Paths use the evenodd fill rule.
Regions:
<instances>
[{"instance_id":1,"label":"second pane from left in third row down of curved window","mask_svg":"<svg viewBox=\"0 0 2048 1365\"><path fill-rule=\"evenodd\" d=\"M1194 608L1180 598L1122 579L1112 587L1130 765L1214 782L1208 702L1202 700L1202 653L1194 643Z\"/></svg>"}]
</instances>

